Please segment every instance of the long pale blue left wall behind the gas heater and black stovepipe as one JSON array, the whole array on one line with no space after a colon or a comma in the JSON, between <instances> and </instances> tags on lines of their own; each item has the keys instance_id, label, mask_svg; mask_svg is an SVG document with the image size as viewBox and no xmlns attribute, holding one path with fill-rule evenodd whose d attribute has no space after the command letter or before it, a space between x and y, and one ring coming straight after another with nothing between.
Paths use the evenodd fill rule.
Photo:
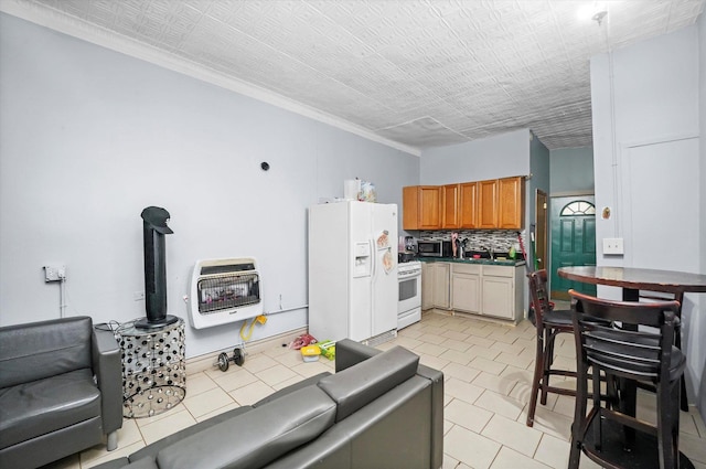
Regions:
<instances>
[{"instance_id":1,"label":"long pale blue left wall behind the gas heater and black stovepipe","mask_svg":"<svg viewBox=\"0 0 706 469\"><path fill-rule=\"evenodd\" d=\"M171 213L169 312L186 318L196 259L254 256L265 310L307 305L307 207L375 183L402 205L419 158L328 125L0 14L0 324L145 316L142 221ZM269 162L268 172L260 162ZM253 340L307 324L272 315ZM240 323L188 328L189 356L240 342Z\"/></svg>"}]
</instances>

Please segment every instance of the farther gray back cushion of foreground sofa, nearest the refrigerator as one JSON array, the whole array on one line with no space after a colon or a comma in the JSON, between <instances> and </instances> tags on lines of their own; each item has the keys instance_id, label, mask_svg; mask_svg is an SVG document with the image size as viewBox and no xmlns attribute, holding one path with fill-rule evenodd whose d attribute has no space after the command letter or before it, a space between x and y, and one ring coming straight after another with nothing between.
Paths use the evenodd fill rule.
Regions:
<instances>
[{"instance_id":1,"label":"farther gray back cushion of foreground sofa, nearest the refrigerator","mask_svg":"<svg viewBox=\"0 0 706 469\"><path fill-rule=\"evenodd\" d=\"M336 422L341 422L367 403L382 396L417 372L419 356L397 345L355 366L319 381L338 404Z\"/></svg>"}]
</instances>

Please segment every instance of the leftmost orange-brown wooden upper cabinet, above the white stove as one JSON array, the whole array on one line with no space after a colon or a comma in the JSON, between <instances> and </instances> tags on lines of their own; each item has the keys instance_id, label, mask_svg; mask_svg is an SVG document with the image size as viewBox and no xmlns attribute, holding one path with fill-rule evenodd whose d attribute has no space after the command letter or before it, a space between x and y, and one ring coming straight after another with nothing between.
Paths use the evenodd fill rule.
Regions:
<instances>
[{"instance_id":1,"label":"leftmost orange-brown wooden upper cabinet, above the white stove","mask_svg":"<svg viewBox=\"0 0 706 469\"><path fill-rule=\"evenodd\" d=\"M441 228L441 188L409 185L402 192L404 230Z\"/></svg>"}]
</instances>

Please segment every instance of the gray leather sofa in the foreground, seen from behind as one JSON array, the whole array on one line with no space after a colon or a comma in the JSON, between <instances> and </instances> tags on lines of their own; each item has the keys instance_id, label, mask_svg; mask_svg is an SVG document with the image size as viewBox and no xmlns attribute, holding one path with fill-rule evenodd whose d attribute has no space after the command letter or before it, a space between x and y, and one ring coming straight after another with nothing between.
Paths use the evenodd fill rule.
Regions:
<instances>
[{"instance_id":1,"label":"gray leather sofa in the foreground, seen from behind","mask_svg":"<svg viewBox=\"0 0 706 469\"><path fill-rule=\"evenodd\" d=\"M336 343L335 374L280 390L95 469L438 469L443 375L400 347Z\"/></svg>"}]
</instances>

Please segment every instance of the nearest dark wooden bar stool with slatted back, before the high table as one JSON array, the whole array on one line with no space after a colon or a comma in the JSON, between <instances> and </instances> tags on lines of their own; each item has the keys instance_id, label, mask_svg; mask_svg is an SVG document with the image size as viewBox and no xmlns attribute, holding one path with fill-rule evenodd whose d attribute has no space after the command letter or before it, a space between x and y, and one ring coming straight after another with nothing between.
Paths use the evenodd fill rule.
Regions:
<instances>
[{"instance_id":1,"label":"nearest dark wooden bar stool with slatted back, before the high table","mask_svg":"<svg viewBox=\"0 0 706 469\"><path fill-rule=\"evenodd\" d=\"M686 365L673 345L680 302L611 301L574 290L569 295L578 374L569 469L578 468L581 451L608 468L655 467L655 459L661 469L678 468L680 380ZM597 318L622 327L597 323ZM589 367L593 387L601 372L620 381L618 408L603 407L593 396L587 415ZM656 388L656 426L634 416L635 382Z\"/></svg>"}]
</instances>

